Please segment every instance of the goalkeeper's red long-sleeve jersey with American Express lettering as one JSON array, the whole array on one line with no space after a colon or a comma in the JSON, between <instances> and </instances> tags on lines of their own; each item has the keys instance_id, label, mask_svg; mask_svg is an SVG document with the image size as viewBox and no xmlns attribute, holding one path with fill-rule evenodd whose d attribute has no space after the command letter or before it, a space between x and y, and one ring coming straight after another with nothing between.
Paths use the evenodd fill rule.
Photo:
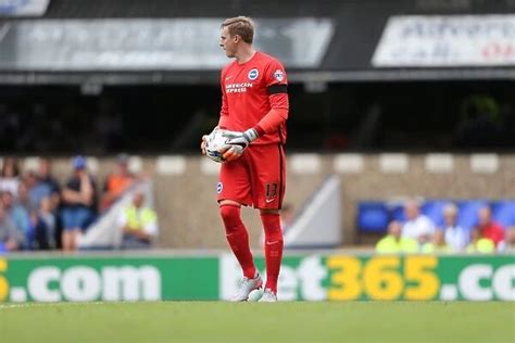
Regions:
<instances>
[{"instance_id":1,"label":"goalkeeper's red long-sleeve jersey with American Express lettering","mask_svg":"<svg viewBox=\"0 0 515 343\"><path fill-rule=\"evenodd\" d=\"M279 118L278 127L263 128L266 132L260 135L252 144L285 143L289 110L287 85L285 67L266 53L255 52L252 59L242 64L233 61L221 75L222 110L218 126L244 131L259 126L271 110L281 110L285 116Z\"/></svg>"}]
</instances>

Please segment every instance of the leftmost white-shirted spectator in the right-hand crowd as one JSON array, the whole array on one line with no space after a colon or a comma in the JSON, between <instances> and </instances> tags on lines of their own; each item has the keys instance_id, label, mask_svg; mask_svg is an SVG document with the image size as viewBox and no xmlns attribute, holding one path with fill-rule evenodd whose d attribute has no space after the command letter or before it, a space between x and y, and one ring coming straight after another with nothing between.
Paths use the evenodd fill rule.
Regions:
<instances>
[{"instance_id":1,"label":"leftmost white-shirted spectator in the right-hand crowd","mask_svg":"<svg viewBox=\"0 0 515 343\"><path fill-rule=\"evenodd\" d=\"M406 223L402 227L402 237L415 239L419 245L431 242L432 234L435 233L435 224L431 219L420 214L418 202L415 200L406 201L404 214Z\"/></svg>"}]
</instances>

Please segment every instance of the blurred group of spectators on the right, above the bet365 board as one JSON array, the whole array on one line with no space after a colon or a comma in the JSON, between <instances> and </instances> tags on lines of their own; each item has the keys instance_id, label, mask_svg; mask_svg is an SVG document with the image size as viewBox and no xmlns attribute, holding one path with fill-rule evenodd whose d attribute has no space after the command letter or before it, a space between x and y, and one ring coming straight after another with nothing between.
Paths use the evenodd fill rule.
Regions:
<instances>
[{"instance_id":1,"label":"blurred group of spectators on the right, above the bet365 board","mask_svg":"<svg viewBox=\"0 0 515 343\"><path fill-rule=\"evenodd\" d=\"M389 223L387 234L376 244L378 253L515 252L515 226L502 227L492 218L489 205L478 208L472 228L457 224L459 207L452 202L442 208L441 224L424 215L416 200L406 201L403 209L405 220Z\"/></svg>"}]
</instances>

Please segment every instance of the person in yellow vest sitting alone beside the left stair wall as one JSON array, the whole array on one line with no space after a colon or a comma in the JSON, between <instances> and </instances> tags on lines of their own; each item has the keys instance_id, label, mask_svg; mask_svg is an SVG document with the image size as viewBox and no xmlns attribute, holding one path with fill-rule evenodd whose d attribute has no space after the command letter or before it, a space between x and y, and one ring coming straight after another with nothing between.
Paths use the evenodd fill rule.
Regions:
<instances>
[{"instance_id":1,"label":"person in yellow vest sitting alone beside the left stair wall","mask_svg":"<svg viewBox=\"0 0 515 343\"><path fill-rule=\"evenodd\" d=\"M158 216L155 212L143 206L145 195L136 192L133 202L126 206L118 225L123 230L122 249L149 249L152 239L158 236Z\"/></svg>"}]
</instances>

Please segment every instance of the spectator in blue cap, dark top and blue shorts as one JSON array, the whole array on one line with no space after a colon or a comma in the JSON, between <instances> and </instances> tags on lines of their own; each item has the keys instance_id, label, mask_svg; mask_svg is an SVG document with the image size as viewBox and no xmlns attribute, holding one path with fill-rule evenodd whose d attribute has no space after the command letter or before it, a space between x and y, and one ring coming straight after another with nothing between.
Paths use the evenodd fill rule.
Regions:
<instances>
[{"instance_id":1,"label":"spectator in blue cap, dark top and blue shorts","mask_svg":"<svg viewBox=\"0 0 515 343\"><path fill-rule=\"evenodd\" d=\"M86 168L86 158L75 156L73 168L62 191L62 245L65 251L76 249L77 236L93 221L96 214L96 183Z\"/></svg>"}]
</instances>

